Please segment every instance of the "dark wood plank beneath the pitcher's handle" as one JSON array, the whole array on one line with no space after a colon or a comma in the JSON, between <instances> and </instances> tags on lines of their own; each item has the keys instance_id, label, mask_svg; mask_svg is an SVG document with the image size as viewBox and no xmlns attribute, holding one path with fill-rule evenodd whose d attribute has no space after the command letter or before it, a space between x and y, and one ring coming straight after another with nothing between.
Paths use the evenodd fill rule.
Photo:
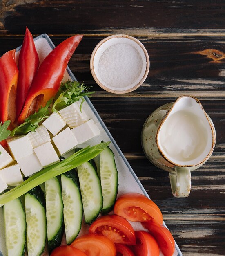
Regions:
<instances>
[{"instance_id":1,"label":"dark wood plank beneath the pitcher's handle","mask_svg":"<svg viewBox=\"0 0 225 256\"><path fill-rule=\"evenodd\" d=\"M128 160L165 218L203 214L220 215L225 220L225 157L212 156L202 167L192 171L192 190L188 198L173 197L166 171L158 169L147 159Z\"/></svg>"}]
</instances>

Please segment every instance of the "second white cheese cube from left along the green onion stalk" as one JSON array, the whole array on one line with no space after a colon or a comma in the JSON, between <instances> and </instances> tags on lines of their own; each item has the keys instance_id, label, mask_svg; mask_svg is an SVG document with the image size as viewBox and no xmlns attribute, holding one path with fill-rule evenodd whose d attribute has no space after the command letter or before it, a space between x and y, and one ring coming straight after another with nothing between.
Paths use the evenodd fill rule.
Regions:
<instances>
[{"instance_id":1,"label":"second white cheese cube from left along the green onion stalk","mask_svg":"<svg viewBox=\"0 0 225 256\"><path fill-rule=\"evenodd\" d=\"M23 182L20 166L18 164L0 170L0 178L2 178L8 186L18 186Z\"/></svg>"}]
</instances>

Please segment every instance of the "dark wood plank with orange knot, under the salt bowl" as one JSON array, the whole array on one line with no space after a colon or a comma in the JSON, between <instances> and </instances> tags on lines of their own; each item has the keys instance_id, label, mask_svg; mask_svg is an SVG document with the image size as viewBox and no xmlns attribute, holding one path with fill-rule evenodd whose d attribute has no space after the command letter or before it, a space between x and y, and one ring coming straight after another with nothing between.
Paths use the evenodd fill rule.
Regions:
<instances>
[{"instance_id":1,"label":"dark wood plank with orange knot, under the salt bowl","mask_svg":"<svg viewBox=\"0 0 225 256\"><path fill-rule=\"evenodd\" d=\"M53 36L52 40L58 45L65 38ZM85 81L87 85L96 85L91 76L89 61L94 47L103 38L84 37L69 62L77 79ZM185 91L192 91L195 96L208 99L225 96L222 92L225 91L225 36L137 38L149 53L150 72L138 90L123 97L172 99L185 94ZM22 39L22 36L1 36L0 54L22 44ZM100 97L113 97L112 94L102 92L98 85L94 86L94 90L98 91Z\"/></svg>"}]
</instances>

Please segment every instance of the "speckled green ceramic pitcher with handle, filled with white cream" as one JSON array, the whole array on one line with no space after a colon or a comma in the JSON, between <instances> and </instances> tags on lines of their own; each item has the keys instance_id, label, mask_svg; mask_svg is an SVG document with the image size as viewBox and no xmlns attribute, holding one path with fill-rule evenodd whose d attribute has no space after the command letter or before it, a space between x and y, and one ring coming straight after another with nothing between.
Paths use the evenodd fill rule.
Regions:
<instances>
[{"instance_id":1,"label":"speckled green ceramic pitcher with handle, filled with white cream","mask_svg":"<svg viewBox=\"0 0 225 256\"><path fill-rule=\"evenodd\" d=\"M191 171L212 155L216 131L200 101L182 96L156 109L147 118L141 142L146 157L169 172L173 195L187 197Z\"/></svg>"}]
</instances>

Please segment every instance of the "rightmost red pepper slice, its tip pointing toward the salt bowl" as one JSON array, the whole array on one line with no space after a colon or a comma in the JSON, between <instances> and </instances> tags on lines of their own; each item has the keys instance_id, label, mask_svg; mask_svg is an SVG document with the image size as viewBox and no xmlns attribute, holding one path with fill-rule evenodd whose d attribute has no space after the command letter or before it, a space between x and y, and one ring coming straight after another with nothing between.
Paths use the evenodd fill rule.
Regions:
<instances>
[{"instance_id":1,"label":"rightmost red pepper slice, its tip pointing toward the salt bowl","mask_svg":"<svg viewBox=\"0 0 225 256\"><path fill-rule=\"evenodd\" d=\"M22 123L30 114L45 106L60 88L60 82L65 74L67 64L79 45L82 35L72 36L60 43L41 63L33 78L27 94L24 108L18 118Z\"/></svg>"}]
</instances>

